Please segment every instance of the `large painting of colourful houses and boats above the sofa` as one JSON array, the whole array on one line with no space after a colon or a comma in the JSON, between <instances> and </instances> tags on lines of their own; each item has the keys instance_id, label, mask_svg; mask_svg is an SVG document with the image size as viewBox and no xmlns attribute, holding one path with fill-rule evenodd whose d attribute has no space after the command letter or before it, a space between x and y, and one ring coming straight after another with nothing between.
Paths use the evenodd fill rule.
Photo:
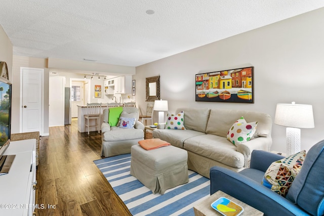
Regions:
<instances>
[{"instance_id":1,"label":"large painting of colourful houses and boats above the sofa","mask_svg":"<svg viewBox=\"0 0 324 216\"><path fill-rule=\"evenodd\" d=\"M254 67L195 75L195 101L254 103Z\"/></svg>"}]
</instances>

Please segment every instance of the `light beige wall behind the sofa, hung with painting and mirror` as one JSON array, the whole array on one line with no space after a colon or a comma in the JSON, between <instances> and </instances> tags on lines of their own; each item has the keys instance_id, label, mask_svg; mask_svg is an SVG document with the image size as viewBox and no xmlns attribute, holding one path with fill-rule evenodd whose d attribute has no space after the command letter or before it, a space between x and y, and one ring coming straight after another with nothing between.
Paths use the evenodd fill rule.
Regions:
<instances>
[{"instance_id":1,"label":"light beige wall behind the sofa, hung with painting and mirror","mask_svg":"<svg viewBox=\"0 0 324 216\"><path fill-rule=\"evenodd\" d=\"M302 149L324 139L324 8L235 35L136 68L136 102L146 109L145 77L160 75L161 99L178 107L269 113L277 103L313 105L315 128L302 129ZM254 104L195 102L195 74L254 66ZM198 119L197 119L198 120ZM286 128L273 124L272 150L286 152Z\"/></svg>"}]
</instances>

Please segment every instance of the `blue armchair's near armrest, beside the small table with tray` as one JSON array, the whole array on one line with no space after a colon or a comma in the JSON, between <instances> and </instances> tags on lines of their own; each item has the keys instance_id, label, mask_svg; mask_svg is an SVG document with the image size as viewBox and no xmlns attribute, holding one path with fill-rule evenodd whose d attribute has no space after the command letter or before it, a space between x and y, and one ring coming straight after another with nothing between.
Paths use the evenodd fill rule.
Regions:
<instances>
[{"instance_id":1,"label":"blue armchair's near armrest, beside the small table with tray","mask_svg":"<svg viewBox=\"0 0 324 216\"><path fill-rule=\"evenodd\" d=\"M285 197L239 172L213 166L210 169L211 194L224 193L264 212L264 215L308 215Z\"/></svg>"}]
</instances>

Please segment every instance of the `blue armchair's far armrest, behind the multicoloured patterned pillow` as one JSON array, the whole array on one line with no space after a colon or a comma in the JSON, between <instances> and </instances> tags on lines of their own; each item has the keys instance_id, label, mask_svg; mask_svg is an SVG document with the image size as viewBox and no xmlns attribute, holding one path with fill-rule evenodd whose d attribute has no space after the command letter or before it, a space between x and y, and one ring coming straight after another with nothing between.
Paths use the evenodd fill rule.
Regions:
<instances>
[{"instance_id":1,"label":"blue armchair's far armrest, behind the multicoloured patterned pillow","mask_svg":"<svg viewBox=\"0 0 324 216\"><path fill-rule=\"evenodd\" d=\"M253 150L251 154L250 168L265 172L272 162L280 160L282 158L285 157L268 151Z\"/></svg>"}]
</instances>

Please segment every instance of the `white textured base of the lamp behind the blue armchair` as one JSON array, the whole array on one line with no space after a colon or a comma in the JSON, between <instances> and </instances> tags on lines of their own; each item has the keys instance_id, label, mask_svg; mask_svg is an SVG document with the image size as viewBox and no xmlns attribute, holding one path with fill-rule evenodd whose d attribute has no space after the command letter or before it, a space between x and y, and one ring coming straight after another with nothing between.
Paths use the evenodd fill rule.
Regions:
<instances>
[{"instance_id":1,"label":"white textured base of the lamp behind the blue armchair","mask_svg":"<svg viewBox=\"0 0 324 216\"><path fill-rule=\"evenodd\" d=\"M300 128L286 128L287 155L300 152Z\"/></svg>"}]
</instances>

